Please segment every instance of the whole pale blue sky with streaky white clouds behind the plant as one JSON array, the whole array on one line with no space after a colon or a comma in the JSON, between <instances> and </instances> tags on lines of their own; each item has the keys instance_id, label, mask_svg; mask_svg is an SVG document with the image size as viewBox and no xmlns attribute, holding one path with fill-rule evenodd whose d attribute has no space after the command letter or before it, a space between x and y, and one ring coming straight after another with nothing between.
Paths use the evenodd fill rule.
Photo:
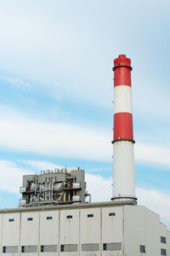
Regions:
<instances>
[{"instance_id":1,"label":"whole pale blue sky with streaky white clouds behind the plant","mask_svg":"<svg viewBox=\"0 0 170 256\"><path fill-rule=\"evenodd\" d=\"M80 166L93 201L110 201L113 60L132 60L139 205L170 227L168 0L0 2L0 207L22 176Z\"/></svg>"}]
</instances>

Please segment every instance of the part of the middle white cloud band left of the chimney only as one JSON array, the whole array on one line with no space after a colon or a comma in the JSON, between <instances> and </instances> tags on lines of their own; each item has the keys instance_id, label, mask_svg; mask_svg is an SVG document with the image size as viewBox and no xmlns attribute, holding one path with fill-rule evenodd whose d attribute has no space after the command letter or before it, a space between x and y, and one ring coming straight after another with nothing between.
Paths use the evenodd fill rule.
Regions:
<instances>
[{"instance_id":1,"label":"part of the middle white cloud band left of the chimney only","mask_svg":"<svg viewBox=\"0 0 170 256\"><path fill-rule=\"evenodd\" d=\"M0 113L1 148L88 160L111 159L111 141L105 132L8 114Z\"/></svg>"}]
</instances>

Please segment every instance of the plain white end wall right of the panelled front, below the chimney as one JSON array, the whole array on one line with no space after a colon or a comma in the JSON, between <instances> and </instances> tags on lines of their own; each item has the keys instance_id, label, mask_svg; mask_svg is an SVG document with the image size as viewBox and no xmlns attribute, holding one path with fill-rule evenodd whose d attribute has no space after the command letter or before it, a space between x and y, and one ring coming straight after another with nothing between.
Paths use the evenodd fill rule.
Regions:
<instances>
[{"instance_id":1,"label":"plain white end wall right of the panelled front, below the chimney","mask_svg":"<svg viewBox=\"0 0 170 256\"><path fill-rule=\"evenodd\" d=\"M127 255L160 256L159 216L145 207L126 206L124 211L124 252ZM145 253L140 252L140 246Z\"/></svg>"}]
</instances>

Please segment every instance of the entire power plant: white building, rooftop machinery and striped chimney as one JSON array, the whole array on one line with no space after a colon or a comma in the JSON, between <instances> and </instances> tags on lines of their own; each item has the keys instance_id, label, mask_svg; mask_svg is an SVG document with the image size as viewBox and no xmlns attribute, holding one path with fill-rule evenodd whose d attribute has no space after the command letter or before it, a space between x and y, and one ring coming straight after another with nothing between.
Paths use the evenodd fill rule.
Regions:
<instances>
[{"instance_id":1,"label":"entire power plant: white building, rooftop machinery and striped chimney","mask_svg":"<svg viewBox=\"0 0 170 256\"><path fill-rule=\"evenodd\" d=\"M114 170L109 202L92 203L84 171L26 175L20 207L0 210L0 255L170 256L170 232L138 206L133 160L131 61L114 61Z\"/></svg>"}]
</instances>

